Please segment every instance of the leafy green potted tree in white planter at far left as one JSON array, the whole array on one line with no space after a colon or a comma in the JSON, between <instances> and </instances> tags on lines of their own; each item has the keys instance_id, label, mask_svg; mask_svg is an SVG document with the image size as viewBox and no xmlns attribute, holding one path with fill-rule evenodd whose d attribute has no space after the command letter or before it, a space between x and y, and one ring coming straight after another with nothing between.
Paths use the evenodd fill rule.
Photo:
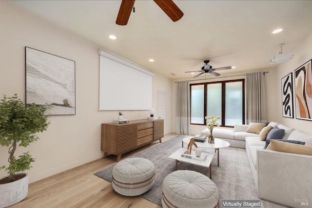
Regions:
<instances>
[{"instance_id":1,"label":"leafy green potted tree in white planter at far left","mask_svg":"<svg viewBox=\"0 0 312 208\"><path fill-rule=\"evenodd\" d=\"M44 113L43 105L34 103L25 107L17 94L12 97L3 96L0 102L0 145L9 147L9 165L1 166L8 176L0 178L0 208L8 207L21 200L28 194L28 173L35 161L29 152L15 157L16 148L27 147L39 138L36 133L47 129L50 122ZM22 172L22 173L18 173Z\"/></svg>"}]
</instances>

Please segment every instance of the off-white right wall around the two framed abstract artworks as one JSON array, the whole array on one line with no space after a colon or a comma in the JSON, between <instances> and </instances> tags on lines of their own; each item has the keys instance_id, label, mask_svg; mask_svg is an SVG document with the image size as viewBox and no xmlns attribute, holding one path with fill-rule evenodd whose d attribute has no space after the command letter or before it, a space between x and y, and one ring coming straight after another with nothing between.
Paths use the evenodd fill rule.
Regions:
<instances>
[{"instance_id":1,"label":"off-white right wall around the two framed abstract artworks","mask_svg":"<svg viewBox=\"0 0 312 208\"><path fill-rule=\"evenodd\" d=\"M294 93L294 70L300 67L302 64L306 63L308 60L312 59L312 33L307 38L303 39L302 42L298 43L296 49L292 51L293 57L289 61L279 64L276 73L276 82L281 85L281 78L292 72L292 82L293 82L293 93ZM282 89L281 86L277 86L277 103L278 106L278 122L286 126L290 126L295 129L312 134L312 121L296 119L295 114L295 97L293 94L293 107L294 107L294 118L286 118L282 116ZM312 112L310 112L312 113Z\"/></svg>"}]
</instances>

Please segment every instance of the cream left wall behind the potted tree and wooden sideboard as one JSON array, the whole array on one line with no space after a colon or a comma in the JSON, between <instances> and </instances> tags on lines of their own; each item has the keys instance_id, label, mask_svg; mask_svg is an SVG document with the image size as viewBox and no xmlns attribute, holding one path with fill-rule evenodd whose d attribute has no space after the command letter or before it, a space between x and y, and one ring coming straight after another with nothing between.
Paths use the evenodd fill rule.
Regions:
<instances>
[{"instance_id":1,"label":"cream left wall behind the potted tree and wooden sideboard","mask_svg":"<svg viewBox=\"0 0 312 208\"><path fill-rule=\"evenodd\" d=\"M17 93L25 100L25 46L76 61L76 115L51 116L48 130L38 134L40 140L17 150L16 156L30 151L36 158L28 171L30 182L102 157L100 126L117 119L117 111L98 111L98 46L5 1L0 1L0 25L1 98ZM153 77L152 103L156 112L157 90L169 95L170 118L171 81L157 74ZM122 113L130 120L149 116L148 111ZM171 132L170 125L167 130ZM0 166L7 165L7 158L7 148L0 146ZM5 175L0 170L0 177Z\"/></svg>"}]
</instances>

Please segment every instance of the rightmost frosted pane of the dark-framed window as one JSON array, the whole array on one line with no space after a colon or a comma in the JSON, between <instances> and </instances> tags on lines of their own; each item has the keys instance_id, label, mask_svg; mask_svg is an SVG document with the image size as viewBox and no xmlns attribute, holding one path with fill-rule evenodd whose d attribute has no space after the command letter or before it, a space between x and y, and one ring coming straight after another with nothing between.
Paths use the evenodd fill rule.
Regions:
<instances>
[{"instance_id":1,"label":"rightmost frosted pane of the dark-framed window","mask_svg":"<svg viewBox=\"0 0 312 208\"><path fill-rule=\"evenodd\" d=\"M243 123L243 83L227 82L225 84L225 125Z\"/></svg>"}]
</instances>

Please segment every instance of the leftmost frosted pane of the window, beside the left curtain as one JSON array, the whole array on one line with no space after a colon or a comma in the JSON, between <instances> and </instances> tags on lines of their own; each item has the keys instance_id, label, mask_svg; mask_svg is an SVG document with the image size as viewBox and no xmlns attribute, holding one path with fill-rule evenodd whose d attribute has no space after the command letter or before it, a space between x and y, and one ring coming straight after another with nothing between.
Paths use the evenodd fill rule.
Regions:
<instances>
[{"instance_id":1,"label":"leftmost frosted pane of the window, beside the left curtain","mask_svg":"<svg viewBox=\"0 0 312 208\"><path fill-rule=\"evenodd\" d=\"M204 85L191 88L191 123L204 124Z\"/></svg>"}]
</instances>

